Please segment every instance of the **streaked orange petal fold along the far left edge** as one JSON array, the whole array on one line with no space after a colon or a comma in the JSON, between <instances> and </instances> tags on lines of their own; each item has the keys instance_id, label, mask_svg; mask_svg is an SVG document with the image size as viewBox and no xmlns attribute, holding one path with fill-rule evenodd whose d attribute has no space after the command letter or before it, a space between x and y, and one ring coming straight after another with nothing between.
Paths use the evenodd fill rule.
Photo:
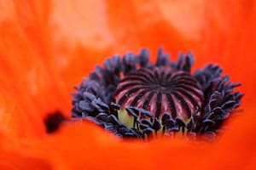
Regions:
<instances>
[{"instance_id":1,"label":"streaked orange petal fold along the far left edge","mask_svg":"<svg viewBox=\"0 0 256 170\"><path fill-rule=\"evenodd\" d=\"M0 5L4 11L0 22L0 82L4 101L1 127L21 137L38 136L44 133L42 113L48 110L46 104L52 105L49 102L52 85L20 27L15 4L2 2ZM44 98L40 98L43 94Z\"/></svg>"}]
</instances>

